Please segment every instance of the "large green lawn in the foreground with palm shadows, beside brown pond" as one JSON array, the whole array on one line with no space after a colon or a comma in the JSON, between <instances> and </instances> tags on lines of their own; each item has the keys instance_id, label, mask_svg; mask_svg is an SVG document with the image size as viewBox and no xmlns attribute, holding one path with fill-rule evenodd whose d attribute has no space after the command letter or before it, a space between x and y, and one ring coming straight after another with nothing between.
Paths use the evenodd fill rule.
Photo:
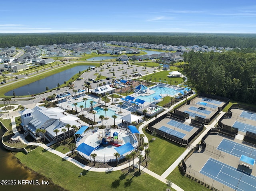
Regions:
<instances>
[{"instance_id":1,"label":"large green lawn in the foreground with palm shadows, beside brown pond","mask_svg":"<svg viewBox=\"0 0 256 191\"><path fill-rule=\"evenodd\" d=\"M70 191L165 191L167 188L165 183L158 181L146 173L132 176L126 175L122 173L122 171L85 171L42 148L37 148L29 154L19 152L16 154L16 157L24 165L51 179L53 183ZM82 173L81 176L80 173Z\"/></svg>"}]
</instances>

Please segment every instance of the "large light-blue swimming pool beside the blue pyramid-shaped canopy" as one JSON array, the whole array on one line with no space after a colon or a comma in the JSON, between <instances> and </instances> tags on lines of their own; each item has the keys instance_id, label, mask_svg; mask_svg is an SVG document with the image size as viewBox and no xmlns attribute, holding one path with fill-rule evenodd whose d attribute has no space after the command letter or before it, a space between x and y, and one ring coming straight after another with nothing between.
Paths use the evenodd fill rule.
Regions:
<instances>
[{"instance_id":1,"label":"large light-blue swimming pool beside the blue pyramid-shaped canopy","mask_svg":"<svg viewBox=\"0 0 256 191\"><path fill-rule=\"evenodd\" d=\"M174 96L174 95L177 95L179 93L182 93L184 94L184 89L180 89L180 88L172 88L172 87L162 87L162 86L156 86L156 87L153 87L151 88L150 90L153 90L155 91L154 94L151 94L151 95L140 95L136 98L139 98L139 99L142 99L146 102L153 102L154 101L154 96L156 95L160 95L160 96Z\"/></svg>"}]
</instances>

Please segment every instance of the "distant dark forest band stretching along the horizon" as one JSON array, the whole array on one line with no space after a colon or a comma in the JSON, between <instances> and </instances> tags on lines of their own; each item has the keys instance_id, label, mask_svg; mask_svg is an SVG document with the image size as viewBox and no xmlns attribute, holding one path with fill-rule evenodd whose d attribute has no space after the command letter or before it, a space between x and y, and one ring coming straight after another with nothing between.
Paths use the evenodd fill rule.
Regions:
<instances>
[{"instance_id":1,"label":"distant dark forest band stretching along the horizon","mask_svg":"<svg viewBox=\"0 0 256 191\"><path fill-rule=\"evenodd\" d=\"M255 48L256 34L224 33L1 33L0 47L25 47L90 41L126 41L163 45Z\"/></svg>"}]
</instances>

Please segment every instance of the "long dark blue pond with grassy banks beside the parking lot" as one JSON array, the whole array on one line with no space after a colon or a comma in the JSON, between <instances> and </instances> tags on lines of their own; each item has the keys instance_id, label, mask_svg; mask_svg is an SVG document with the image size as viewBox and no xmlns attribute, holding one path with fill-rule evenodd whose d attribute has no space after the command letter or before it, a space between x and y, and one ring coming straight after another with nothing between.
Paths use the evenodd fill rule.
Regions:
<instances>
[{"instance_id":1,"label":"long dark blue pond with grassy banks beside the parking lot","mask_svg":"<svg viewBox=\"0 0 256 191\"><path fill-rule=\"evenodd\" d=\"M16 88L12 91L8 91L4 95L12 96L13 91L15 92L16 96L22 96L22 95L28 95L28 94L33 95L33 94L42 93L46 91L46 87L48 87L49 89L56 88L58 83L63 84L64 81L68 81L79 71L84 71L89 67L92 67L92 66L76 66L76 67L67 69L63 72L48 76L44 79L35 81L28 85Z\"/></svg>"}]
</instances>

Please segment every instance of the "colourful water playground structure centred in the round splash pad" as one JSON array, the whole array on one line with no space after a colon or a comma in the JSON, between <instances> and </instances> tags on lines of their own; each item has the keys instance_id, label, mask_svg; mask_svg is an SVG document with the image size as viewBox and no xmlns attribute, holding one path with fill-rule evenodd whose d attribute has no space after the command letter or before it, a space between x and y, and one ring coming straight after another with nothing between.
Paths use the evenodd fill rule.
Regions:
<instances>
[{"instance_id":1,"label":"colourful water playground structure centred in the round splash pad","mask_svg":"<svg viewBox=\"0 0 256 191\"><path fill-rule=\"evenodd\" d=\"M111 130L106 129L104 132L99 132L98 134L98 142L100 145L106 147L108 145L113 145L116 147L121 146L120 144L123 143L123 140L118 139L118 133L114 132L113 136L111 136Z\"/></svg>"}]
</instances>

